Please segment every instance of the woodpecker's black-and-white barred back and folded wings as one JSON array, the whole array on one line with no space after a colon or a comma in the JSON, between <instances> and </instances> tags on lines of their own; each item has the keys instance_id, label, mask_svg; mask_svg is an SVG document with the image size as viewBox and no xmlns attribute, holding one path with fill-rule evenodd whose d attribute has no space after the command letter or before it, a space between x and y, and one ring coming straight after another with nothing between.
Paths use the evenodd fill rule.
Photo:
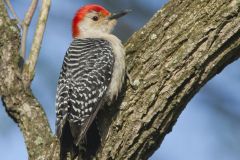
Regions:
<instances>
[{"instance_id":1,"label":"woodpecker's black-and-white barred back and folded wings","mask_svg":"<svg viewBox=\"0 0 240 160\"><path fill-rule=\"evenodd\" d=\"M100 38L75 39L64 58L57 95L56 134L69 125L78 145L105 100L114 66L110 43Z\"/></svg>"}]
</instances>

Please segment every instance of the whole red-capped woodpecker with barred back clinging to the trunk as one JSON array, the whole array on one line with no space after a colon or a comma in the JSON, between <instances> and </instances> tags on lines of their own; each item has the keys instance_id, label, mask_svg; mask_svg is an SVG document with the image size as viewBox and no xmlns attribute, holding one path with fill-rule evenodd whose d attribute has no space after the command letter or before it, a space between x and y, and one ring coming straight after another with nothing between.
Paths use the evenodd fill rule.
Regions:
<instances>
[{"instance_id":1,"label":"whole red-capped woodpecker with barred back clinging to the trunk","mask_svg":"<svg viewBox=\"0 0 240 160\"><path fill-rule=\"evenodd\" d=\"M72 22L72 41L60 73L56 95L56 134L61 159L79 147L99 109L110 104L125 76L125 51L111 34L116 19L96 4L80 8ZM75 148L75 149L74 149Z\"/></svg>"}]
</instances>

